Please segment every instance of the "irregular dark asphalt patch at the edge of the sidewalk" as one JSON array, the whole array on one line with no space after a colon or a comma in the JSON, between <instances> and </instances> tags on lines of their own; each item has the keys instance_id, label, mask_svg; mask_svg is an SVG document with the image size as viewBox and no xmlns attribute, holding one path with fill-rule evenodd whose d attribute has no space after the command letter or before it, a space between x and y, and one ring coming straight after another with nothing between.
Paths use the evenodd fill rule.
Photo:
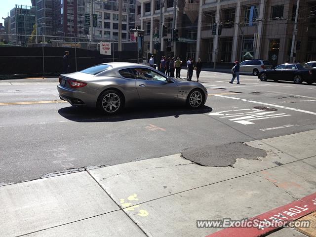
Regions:
<instances>
[{"instance_id":1,"label":"irregular dark asphalt patch at the edge of the sidewalk","mask_svg":"<svg viewBox=\"0 0 316 237\"><path fill-rule=\"evenodd\" d=\"M258 159L266 157L267 153L243 143L230 143L189 148L184 150L181 156L203 166L227 167L233 165L237 158Z\"/></svg>"}]
</instances>

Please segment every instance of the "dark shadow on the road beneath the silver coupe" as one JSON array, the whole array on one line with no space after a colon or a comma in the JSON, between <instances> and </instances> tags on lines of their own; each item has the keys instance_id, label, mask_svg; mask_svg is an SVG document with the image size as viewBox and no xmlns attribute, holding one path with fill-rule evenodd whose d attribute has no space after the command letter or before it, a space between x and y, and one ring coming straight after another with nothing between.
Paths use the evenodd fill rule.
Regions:
<instances>
[{"instance_id":1,"label":"dark shadow on the road beneath the silver coupe","mask_svg":"<svg viewBox=\"0 0 316 237\"><path fill-rule=\"evenodd\" d=\"M76 122L116 122L142 118L170 117L179 118L181 115L196 115L212 112L212 108L202 106L199 109L188 109L186 107L145 107L126 108L118 115L102 115L97 110L89 108L65 107L58 110L58 113L69 120Z\"/></svg>"}]
</instances>

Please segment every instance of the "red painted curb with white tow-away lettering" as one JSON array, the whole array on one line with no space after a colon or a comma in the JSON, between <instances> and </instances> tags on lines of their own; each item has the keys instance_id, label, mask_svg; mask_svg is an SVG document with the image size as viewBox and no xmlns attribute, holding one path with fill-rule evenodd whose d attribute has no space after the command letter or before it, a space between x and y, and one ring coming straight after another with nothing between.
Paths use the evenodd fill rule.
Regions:
<instances>
[{"instance_id":1,"label":"red painted curb with white tow-away lettering","mask_svg":"<svg viewBox=\"0 0 316 237\"><path fill-rule=\"evenodd\" d=\"M300 200L293 201L287 205L277 207L276 209L255 216L245 222L245 224L249 222L255 223L254 220L260 220L257 227L229 227L207 237L260 237L276 229L282 228L276 226L269 227L269 223L273 221L286 224L314 211L316 211L316 193L303 197ZM264 223L267 223L266 227L263 227Z\"/></svg>"}]
</instances>

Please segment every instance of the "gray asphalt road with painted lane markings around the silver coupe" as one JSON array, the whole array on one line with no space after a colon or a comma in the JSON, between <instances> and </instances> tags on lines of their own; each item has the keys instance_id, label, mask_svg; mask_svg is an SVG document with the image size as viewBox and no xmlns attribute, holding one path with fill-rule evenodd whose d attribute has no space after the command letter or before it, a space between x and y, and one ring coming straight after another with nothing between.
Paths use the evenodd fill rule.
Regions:
<instances>
[{"instance_id":1,"label":"gray asphalt road with painted lane markings around the silver coupe","mask_svg":"<svg viewBox=\"0 0 316 237\"><path fill-rule=\"evenodd\" d=\"M60 101L58 79L2 80L0 184L316 129L316 84L230 78L201 72L209 97L199 110L140 107L115 117Z\"/></svg>"}]
</instances>

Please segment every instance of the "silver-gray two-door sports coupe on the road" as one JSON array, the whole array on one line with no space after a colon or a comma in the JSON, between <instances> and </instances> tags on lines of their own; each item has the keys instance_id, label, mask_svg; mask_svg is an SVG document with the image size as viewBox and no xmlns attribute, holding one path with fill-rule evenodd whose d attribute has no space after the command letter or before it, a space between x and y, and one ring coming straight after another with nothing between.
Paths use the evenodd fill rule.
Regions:
<instances>
[{"instance_id":1,"label":"silver-gray two-door sports coupe on the road","mask_svg":"<svg viewBox=\"0 0 316 237\"><path fill-rule=\"evenodd\" d=\"M59 97L73 106L115 114L123 107L182 104L195 109L206 102L206 88L175 79L152 67L134 63L104 63L59 77Z\"/></svg>"}]
</instances>

